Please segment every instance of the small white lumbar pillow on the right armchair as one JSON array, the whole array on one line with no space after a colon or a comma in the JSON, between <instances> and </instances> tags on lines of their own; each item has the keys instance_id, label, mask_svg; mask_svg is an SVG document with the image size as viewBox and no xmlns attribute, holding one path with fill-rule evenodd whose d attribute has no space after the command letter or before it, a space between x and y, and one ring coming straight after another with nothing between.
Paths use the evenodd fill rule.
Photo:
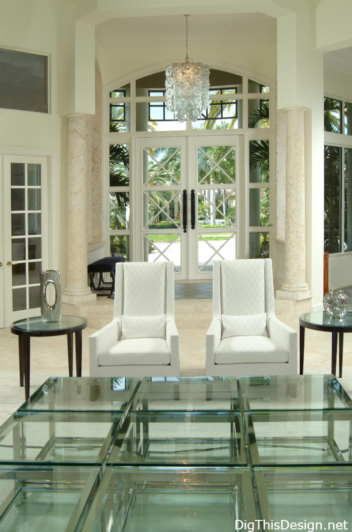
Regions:
<instances>
[{"instance_id":1,"label":"small white lumbar pillow on the right armchair","mask_svg":"<svg viewBox=\"0 0 352 532\"><path fill-rule=\"evenodd\" d=\"M266 312L252 316L221 315L223 322L222 339L230 336L268 336L266 332Z\"/></svg>"}]
</instances>

